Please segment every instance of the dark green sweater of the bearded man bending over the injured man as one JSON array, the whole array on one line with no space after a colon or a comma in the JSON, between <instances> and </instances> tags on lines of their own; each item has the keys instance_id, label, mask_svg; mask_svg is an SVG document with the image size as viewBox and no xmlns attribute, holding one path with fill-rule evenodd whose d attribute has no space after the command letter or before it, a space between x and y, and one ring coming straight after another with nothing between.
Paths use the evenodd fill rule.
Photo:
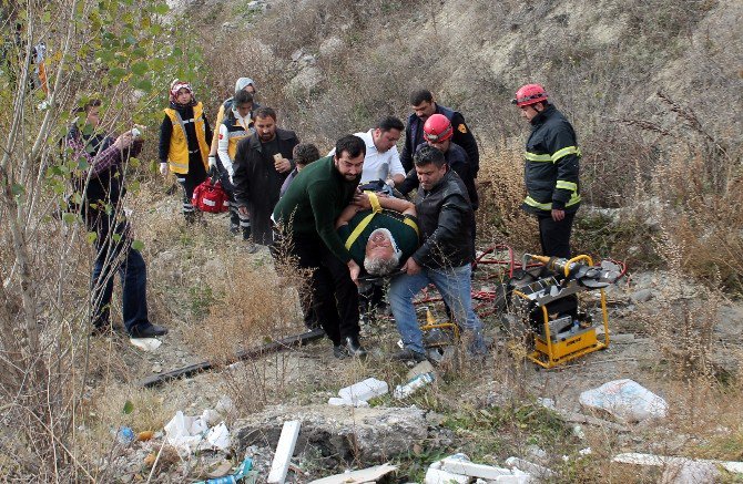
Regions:
<instances>
[{"instance_id":1,"label":"dark green sweater of the bearded man bending over the injured man","mask_svg":"<svg viewBox=\"0 0 743 484\"><path fill-rule=\"evenodd\" d=\"M274 208L274 220L288 234L319 236L325 246L344 264L350 260L335 230L335 220L354 198L360 178L348 182L326 156L297 174Z\"/></svg>"}]
</instances>

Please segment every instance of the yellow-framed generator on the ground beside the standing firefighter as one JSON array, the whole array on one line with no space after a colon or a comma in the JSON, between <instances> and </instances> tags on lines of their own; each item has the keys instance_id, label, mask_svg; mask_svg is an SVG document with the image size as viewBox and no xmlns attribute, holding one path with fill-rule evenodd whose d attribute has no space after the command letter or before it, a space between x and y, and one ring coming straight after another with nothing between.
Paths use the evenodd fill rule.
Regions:
<instances>
[{"instance_id":1,"label":"yellow-framed generator on the ground beside the standing firefighter","mask_svg":"<svg viewBox=\"0 0 743 484\"><path fill-rule=\"evenodd\" d=\"M533 351L527 357L549 369L608 348L609 315L603 289L623 274L620 264L602 261L594 266L584 255L562 259L525 254L522 268L513 274L507 290L512 302L510 311L528 320L532 330ZM601 340L591 316L582 312L578 303L578 294L592 290L600 292Z\"/></svg>"}]
</instances>

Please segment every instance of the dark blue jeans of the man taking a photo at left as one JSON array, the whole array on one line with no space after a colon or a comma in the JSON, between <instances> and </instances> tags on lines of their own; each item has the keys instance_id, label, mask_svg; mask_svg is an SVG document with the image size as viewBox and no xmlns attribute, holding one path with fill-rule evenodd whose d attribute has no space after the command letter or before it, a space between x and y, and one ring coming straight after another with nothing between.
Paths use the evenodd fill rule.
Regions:
<instances>
[{"instance_id":1,"label":"dark blue jeans of the man taking a photo at left","mask_svg":"<svg viewBox=\"0 0 743 484\"><path fill-rule=\"evenodd\" d=\"M105 327L110 321L111 297L113 295L113 279L115 272L121 277L123 319L126 332L131 333L136 326L147 326L147 270L144 259L138 250L131 247L128 240L124 224L115 230L121 235L121 241L106 240L108 230L98 235L98 256L93 266L92 305L93 325Z\"/></svg>"}]
</instances>

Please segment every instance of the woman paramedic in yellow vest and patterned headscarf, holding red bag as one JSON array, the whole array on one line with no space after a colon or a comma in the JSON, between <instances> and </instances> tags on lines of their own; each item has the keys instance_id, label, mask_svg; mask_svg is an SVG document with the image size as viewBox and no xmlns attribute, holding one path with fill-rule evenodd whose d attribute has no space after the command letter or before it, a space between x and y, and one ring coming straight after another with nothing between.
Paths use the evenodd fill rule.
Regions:
<instances>
[{"instance_id":1,"label":"woman paramedic in yellow vest and patterned headscarf, holding red bag","mask_svg":"<svg viewBox=\"0 0 743 484\"><path fill-rule=\"evenodd\" d=\"M183 215L186 223L196 220L191 204L193 190L206 179L212 128L204 106L196 102L191 84L177 79L171 84L170 106L160 126L160 173L175 174L183 188Z\"/></svg>"}]
</instances>

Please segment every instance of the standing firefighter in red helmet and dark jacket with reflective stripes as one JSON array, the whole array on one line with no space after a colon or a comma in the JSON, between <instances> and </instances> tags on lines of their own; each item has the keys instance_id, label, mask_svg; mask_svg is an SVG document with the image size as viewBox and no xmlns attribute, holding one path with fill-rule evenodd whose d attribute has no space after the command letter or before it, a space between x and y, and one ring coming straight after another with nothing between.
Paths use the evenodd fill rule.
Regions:
<instances>
[{"instance_id":1,"label":"standing firefighter in red helmet and dark jacket with reflective stripes","mask_svg":"<svg viewBox=\"0 0 743 484\"><path fill-rule=\"evenodd\" d=\"M539 220L542 254L570 257L570 233L580 206L580 148L576 132L540 84L526 84L511 101L531 124L526 146L527 197L521 205Z\"/></svg>"}]
</instances>

